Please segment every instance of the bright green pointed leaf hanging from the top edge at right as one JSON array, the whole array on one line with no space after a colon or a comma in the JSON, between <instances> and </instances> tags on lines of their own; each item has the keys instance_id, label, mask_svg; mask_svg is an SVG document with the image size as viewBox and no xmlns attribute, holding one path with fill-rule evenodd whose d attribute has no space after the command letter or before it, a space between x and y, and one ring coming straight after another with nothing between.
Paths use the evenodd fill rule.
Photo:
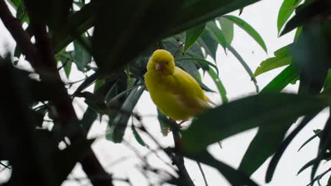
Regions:
<instances>
[{"instance_id":1,"label":"bright green pointed leaf hanging from the top edge at right","mask_svg":"<svg viewBox=\"0 0 331 186\"><path fill-rule=\"evenodd\" d=\"M281 32L281 28L288 21L290 16L293 14L295 8L301 3L302 0L284 0L279 8L278 19L277 19L277 30Z\"/></svg>"}]
</instances>

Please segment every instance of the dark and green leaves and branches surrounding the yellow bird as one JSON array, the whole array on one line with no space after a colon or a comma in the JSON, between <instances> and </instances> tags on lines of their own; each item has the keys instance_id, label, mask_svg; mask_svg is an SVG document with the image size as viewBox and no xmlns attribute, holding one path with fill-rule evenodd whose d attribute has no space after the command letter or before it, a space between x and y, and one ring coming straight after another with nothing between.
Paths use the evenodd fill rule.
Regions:
<instances>
[{"instance_id":1,"label":"dark and green leaves and branches surrounding the yellow bird","mask_svg":"<svg viewBox=\"0 0 331 186\"><path fill-rule=\"evenodd\" d=\"M228 13L242 12L257 1L8 0L19 20L12 21L7 4L0 0L0 19L17 42L13 54L17 59L0 58L0 77L6 79L6 88L1 92L0 160L9 161L9 165L1 165L15 170L6 185L61 185L77 162L82 164L92 185L112 185L113 173L103 169L90 148L94 139L87 139L92 123L102 116L108 118L108 140L125 143L123 138L129 128L140 145L148 148L144 141L148 136L173 161L178 168L174 169L176 175L164 171L168 177L161 178L159 185L192 185L183 156L214 167L232 185L257 185L250 176L274 154L265 176L269 183L292 139L323 108L330 106L331 5L326 0L284 0L277 30L283 35L297 28L294 42L275 51L274 57L262 61L253 73L232 46L237 28L234 25L247 32L265 52L267 45L248 22ZM294 11L295 16L290 19ZM28 25L26 30L22 29L23 23ZM32 37L35 43L31 42ZM228 101L216 64L219 45L241 63L257 94ZM194 118L188 130L179 129L158 110L161 131L166 135L172 130L174 148L163 148L134 112L146 90L146 64L159 48L171 52L176 65L191 74L203 90L214 92L202 82L201 76L208 73L223 102ZM21 56L30 62L33 73L39 74L38 80L30 78L33 73L15 67L21 63ZM70 79L72 64L86 74L86 79L63 83L58 71L63 68ZM255 77L283 66L287 67L260 92ZM297 80L297 94L280 93ZM73 89L76 83L79 84ZM86 90L90 85L94 86L93 92ZM81 119L72 107L76 98L84 99L88 106ZM285 136L301 116L299 125ZM46 122L52 123L50 130L43 127ZM238 169L208 153L208 145L254 127L259 127L259 132ZM320 162L330 160L330 129L329 118L325 127L302 145L319 136L317 157L300 170L312 166L312 183L327 173L315 177ZM66 138L70 143L60 150L59 143L66 142ZM144 175L163 171L141 159ZM96 175L107 179L93 179ZM123 181L131 184L129 179Z\"/></svg>"}]
</instances>

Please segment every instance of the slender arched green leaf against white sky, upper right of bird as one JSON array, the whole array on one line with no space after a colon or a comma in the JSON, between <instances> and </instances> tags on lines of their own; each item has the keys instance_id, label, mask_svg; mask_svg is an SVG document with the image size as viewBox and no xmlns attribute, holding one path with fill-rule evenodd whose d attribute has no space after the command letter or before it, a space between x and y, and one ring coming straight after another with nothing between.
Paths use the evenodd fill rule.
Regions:
<instances>
[{"instance_id":1,"label":"slender arched green leaf against white sky, upper right of bird","mask_svg":"<svg viewBox=\"0 0 331 186\"><path fill-rule=\"evenodd\" d=\"M249 25L248 23L246 23L245 21L243 21L243 19L239 18L239 17L235 17L232 15L224 15L222 16L225 19L228 19L229 21L232 21L234 24L238 25L240 28L242 28L243 30L245 30L245 32L247 32L248 34L250 34L250 36L257 41L257 43L259 43L259 45L261 46L261 48L263 48L263 50L268 53L267 47L265 46L265 43L262 39L262 37L260 36L260 34L254 29L252 28L251 25Z\"/></svg>"}]
</instances>

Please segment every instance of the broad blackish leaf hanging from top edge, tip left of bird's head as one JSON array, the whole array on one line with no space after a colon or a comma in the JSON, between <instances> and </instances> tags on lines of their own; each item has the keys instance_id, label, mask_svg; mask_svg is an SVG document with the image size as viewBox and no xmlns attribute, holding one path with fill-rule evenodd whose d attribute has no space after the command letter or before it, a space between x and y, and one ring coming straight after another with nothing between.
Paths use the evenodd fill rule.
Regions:
<instances>
[{"instance_id":1,"label":"broad blackish leaf hanging from top edge, tip left of bird's head","mask_svg":"<svg viewBox=\"0 0 331 186\"><path fill-rule=\"evenodd\" d=\"M183 0L100 1L97 6L92 50L101 74L109 74L143 52L177 19ZM130 6L128 6L130 4ZM109 11L110 7L114 7ZM162 16L157 16L159 8ZM109 22L109 17L116 17ZM116 26L114 26L116 25ZM152 27L150 26L152 25Z\"/></svg>"}]
</instances>

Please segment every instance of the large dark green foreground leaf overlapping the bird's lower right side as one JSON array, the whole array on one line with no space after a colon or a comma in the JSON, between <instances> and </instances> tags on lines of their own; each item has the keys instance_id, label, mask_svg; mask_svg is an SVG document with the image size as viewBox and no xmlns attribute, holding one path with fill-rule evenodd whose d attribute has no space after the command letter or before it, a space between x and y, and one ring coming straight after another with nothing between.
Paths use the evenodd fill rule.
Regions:
<instances>
[{"instance_id":1,"label":"large dark green foreground leaf overlapping the bird's lower right side","mask_svg":"<svg viewBox=\"0 0 331 186\"><path fill-rule=\"evenodd\" d=\"M327 105L325 99L297 94L248 96L198 116L183 132L182 145L190 151L200 151L212 143L254 127L274 128L276 124L281 127L281 123L314 113Z\"/></svg>"}]
</instances>

